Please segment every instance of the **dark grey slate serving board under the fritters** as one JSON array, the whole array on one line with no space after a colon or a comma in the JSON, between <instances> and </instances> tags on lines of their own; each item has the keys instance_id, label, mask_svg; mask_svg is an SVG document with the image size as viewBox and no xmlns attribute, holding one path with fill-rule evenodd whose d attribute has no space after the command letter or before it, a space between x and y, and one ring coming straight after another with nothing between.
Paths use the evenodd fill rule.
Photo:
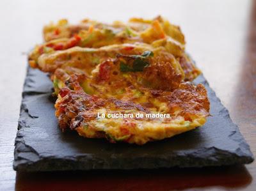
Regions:
<instances>
[{"instance_id":1,"label":"dark grey slate serving board under the fritters","mask_svg":"<svg viewBox=\"0 0 256 191\"><path fill-rule=\"evenodd\" d=\"M201 128L143 146L111 144L62 133L54 116L52 83L47 74L28 67L13 168L17 171L90 169L155 169L248 164L250 147L203 75L195 80L207 88L211 115Z\"/></svg>"}]
</instances>

